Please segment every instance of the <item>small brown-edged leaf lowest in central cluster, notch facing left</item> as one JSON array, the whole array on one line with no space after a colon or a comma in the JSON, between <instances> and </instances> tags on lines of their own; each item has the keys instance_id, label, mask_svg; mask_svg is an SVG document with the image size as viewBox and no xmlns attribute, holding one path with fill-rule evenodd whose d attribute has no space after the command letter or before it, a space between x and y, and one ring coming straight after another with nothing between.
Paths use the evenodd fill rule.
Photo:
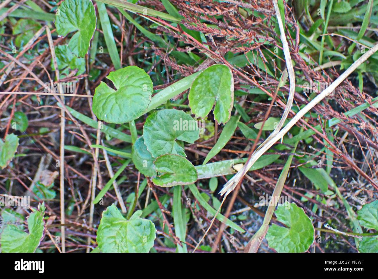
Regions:
<instances>
[{"instance_id":1,"label":"small brown-edged leaf lowest in central cluster, notch facing left","mask_svg":"<svg viewBox=\"0 0 378 279\"><path fill-rule=\"evenodd\" d=\"M158 157L155 169L159 175L152 179L155 185L172 187L175 185L188 185L197 181L197 170L194 165L184 157L176 154L166 154Z\"/></svg>"}]
</instances>

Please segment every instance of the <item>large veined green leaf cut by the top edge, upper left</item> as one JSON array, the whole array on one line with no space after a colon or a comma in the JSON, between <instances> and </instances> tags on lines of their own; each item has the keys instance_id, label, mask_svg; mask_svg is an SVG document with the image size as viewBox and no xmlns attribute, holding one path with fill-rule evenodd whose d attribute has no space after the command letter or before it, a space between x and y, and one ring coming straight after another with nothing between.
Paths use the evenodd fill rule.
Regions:
<instances>
[{"instance_id":1,"label":"large veined green leaf cut by the top edge, upper left","mask_svg":"<svg viewBox=\"0 0 378 279\"><path fill-rule=\"evenodd\" d=\"M64 0L55 14L56 31L61 36L77 31L68 47L79 57L85 57L96 29L95 7L90 0Z\"/></svg>"}]
</instances>

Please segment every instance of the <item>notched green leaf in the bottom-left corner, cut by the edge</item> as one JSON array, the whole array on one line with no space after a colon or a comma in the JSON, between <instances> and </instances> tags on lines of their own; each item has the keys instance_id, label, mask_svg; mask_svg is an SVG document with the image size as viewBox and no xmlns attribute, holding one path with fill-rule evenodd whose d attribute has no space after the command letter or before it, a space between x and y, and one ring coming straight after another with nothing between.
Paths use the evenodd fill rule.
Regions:
<instances>
[{"instance_id":1,"label":"notched green leaf in the bottom-left corner, cut by the edge","mask_svg":"<svg viewBox=\"0 0 378 279\"><path fill-rule=\"evenodd\" d=\"M29 233L19 226L8 224L1 234L3 253L34 253L43 237L44 210L37 210L27 218Z\"/></svg>"}]
</instances>

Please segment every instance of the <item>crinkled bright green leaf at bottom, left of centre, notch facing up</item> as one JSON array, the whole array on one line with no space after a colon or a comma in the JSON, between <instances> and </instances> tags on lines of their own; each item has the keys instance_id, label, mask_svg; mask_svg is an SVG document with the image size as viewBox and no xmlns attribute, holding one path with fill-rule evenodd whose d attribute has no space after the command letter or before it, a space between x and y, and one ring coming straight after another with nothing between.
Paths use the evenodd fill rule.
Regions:
<instances>
[{"instance_id":1,"label":"crinkled bright green leaf at bottom, left of centre, notch facing up","mask_svg":"<svg viewBox=\"0 0 378 279\"><path fill-rule=\"evenodd\" d=\"M142 210L126 220L112 204L103 213L97 230L97 243L103 253L148 253L156 238L152 221L140 218Z\"/></svg>"}]
</instances>

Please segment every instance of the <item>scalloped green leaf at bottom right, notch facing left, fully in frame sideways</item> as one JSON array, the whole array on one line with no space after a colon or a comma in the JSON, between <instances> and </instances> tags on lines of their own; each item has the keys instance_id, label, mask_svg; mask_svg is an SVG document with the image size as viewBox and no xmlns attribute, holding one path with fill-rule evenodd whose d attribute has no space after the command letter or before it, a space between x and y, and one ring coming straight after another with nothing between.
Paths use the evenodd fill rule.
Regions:
<instances>
[{"instance_id":1,"label":"scalloped green leaf at bottom right, notch facing left, fully in frame sideways","mask_svg":"<svg viewBox=\"0 0 378 279\"><path fill-rule=\"evenodd\" d=\"M286 202L275 211L277 221L288 228L273 224L266 233L270 248L278 253L302 253L310 248L314 241L314 226L301 207Z\"/></svg>"}]
</instances>

